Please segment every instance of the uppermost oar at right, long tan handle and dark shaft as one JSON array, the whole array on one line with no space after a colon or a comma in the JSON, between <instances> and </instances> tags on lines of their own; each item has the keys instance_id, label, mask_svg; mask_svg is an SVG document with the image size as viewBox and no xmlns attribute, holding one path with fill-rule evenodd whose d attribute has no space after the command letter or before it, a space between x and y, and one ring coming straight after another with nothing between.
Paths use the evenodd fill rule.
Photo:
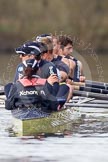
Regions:
<instances>
[{"instance_id":1,"label":"uppermost oar at right, long tan handle and dark shaft","mask_svg":"<svg viewBox=\"0 0 108 162\"><path fill-rule=\"evenodd\" d=\"M108 83L86 80L85 82L73 82L73 85L100 88L108 90Z\"/></svg>"}]
</instances>

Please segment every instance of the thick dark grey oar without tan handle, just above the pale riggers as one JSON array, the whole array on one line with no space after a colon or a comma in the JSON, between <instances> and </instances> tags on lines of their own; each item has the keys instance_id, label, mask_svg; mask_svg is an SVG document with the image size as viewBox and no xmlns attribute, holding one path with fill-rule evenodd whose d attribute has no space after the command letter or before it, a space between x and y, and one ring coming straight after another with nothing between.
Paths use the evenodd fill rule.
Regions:
<instances>
[{"instance_id":1,"label":"thick dark grey oar without tan handle, just above the pale riggers","mask_svg":"<svg viewBox=\"0 0 108 162\"><path fill-rule=\"evenodd\" d=\"M91 97L91 98L101 99L101 100L108 100L108 94L100 94L100 93L98 94L98 93L93 93L93 92L74 90L73 95L74 96Z\"/></svg>"}]
</instances>

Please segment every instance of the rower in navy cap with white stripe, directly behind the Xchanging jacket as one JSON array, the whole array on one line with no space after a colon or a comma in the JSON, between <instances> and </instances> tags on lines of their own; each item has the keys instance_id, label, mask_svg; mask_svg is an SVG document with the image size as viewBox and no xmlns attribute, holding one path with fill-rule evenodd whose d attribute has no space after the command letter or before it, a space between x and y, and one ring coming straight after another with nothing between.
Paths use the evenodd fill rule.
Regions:
<instances>
[{"instance_id":1,"label":"rower in navy cap with white stripe, directly behind the Xchanging jacket","mask_svg":"<svg viewBox=\"0 0 108 162\"><path fill-rule=\"evenodd\" d=\"M34 50L34 53L32 52L32 49ZM23 46L21 46L20 48L16 49L16 53L20 55L23 54L23 59L27 55L28 57L26 56L25 60L33 58L39 62L39 69L37 71L37 74L42 78L48 78L51 74L57 74L57 69L55 65L43 59L46 52L47 47L45 47L45 45L43 46L41 43L36 43L33 41L29 41L23 44ZM23 64L20 63L16 70L14 82L16 82L17 79L19 79L19 77L22 76L22 72Z\"/></svg>"}]
</instances>

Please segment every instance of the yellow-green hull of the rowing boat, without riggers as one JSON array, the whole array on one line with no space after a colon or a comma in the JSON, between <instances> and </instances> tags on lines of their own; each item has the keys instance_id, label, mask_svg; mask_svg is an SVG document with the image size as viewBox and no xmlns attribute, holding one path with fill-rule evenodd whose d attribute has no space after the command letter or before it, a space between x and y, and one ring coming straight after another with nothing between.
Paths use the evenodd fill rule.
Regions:
<instances>
[{"instance_id":1,"label":"yellow-green hull of the rowing boat, without riggers","mask_svg":"<svg viewBox=\"0 0 108 162\"><path fill-rule=\"evenodd\" d=\"M36 134L64 133L72 131L72 124L81 122L81 114L74 108L53 112L46 117L18 119L14 117L13 131L16 136L35 136Z\"/></svg>"}]
</instances>

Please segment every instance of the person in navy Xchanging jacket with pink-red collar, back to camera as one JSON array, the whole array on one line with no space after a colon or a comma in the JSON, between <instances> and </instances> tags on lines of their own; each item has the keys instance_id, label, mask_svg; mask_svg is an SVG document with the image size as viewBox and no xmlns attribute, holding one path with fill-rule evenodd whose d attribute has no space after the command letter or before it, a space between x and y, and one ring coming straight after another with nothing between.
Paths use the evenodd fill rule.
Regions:
<instances>
[{"instance_id":1,"label":"person in navy Xchanging jacket with pink-red collar, back to camera","mask_svg":"<svg viewBox=\"0 0 108 162\"><path fill-rule=\"evenodd\" d=\"M64 91L64 86L59 87L56 95L54 83L58 82L57 75L50 75L47 79L37 76L36 72L39 68L39 63L35 59L24 60L23 65L23 78L14 83L9 94L6 94L5 108L12 110L13 115L16 117L20 113L28 117L28 113L24 112L25 109L31 108L36 108L43 112L59 110L67 99L69 88L67 87ZM60 91L64 91L62 98L59 95ZM34 115L36 114L34 113Z\"/></svg>"}]
</instances>

